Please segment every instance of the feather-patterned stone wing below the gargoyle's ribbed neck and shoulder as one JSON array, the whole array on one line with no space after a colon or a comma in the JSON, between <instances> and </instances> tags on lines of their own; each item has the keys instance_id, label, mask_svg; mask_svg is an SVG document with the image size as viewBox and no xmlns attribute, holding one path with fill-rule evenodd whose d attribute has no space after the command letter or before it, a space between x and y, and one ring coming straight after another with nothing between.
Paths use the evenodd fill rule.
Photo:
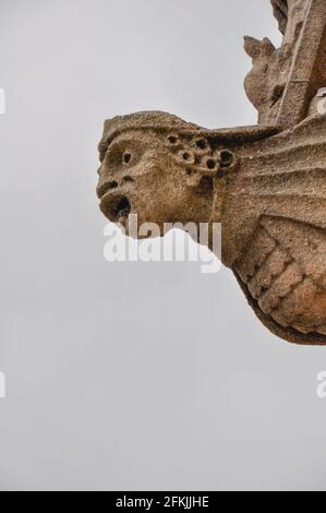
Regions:
<instances>
[{"instance_id":1,"label":"feather-patterned stone wing below the gargoyle's ribbed neck and shoulder","mask_svg":"<svg viewBox=\"0 0 326 513\"><path fill-rule=\"evenodd\" d=\"M269 330L295 343L326 344L326 230L262 216L233 271Z\"/></svg>"}]
</instances>

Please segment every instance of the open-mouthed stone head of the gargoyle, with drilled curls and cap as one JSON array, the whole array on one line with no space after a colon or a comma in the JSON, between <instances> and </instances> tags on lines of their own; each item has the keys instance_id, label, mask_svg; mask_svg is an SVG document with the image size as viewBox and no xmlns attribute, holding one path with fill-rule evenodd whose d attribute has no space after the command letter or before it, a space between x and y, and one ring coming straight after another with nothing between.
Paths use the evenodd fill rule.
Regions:
<instances>
[{"instance_id":1,"label":"open-mouthed stone head of the gargoyle, with drilled curls and cap","mask_svg":"<svg viewBox=\"0 0 326 513\"><path fill-rule=\"evenodd\" d=\"M99 143L100 210L128 229L128 217L155 223L209 219L214 180L233 155L214 147L209 131L166 112L138 112L105 122Z\"/></svg>"}]
</instances>

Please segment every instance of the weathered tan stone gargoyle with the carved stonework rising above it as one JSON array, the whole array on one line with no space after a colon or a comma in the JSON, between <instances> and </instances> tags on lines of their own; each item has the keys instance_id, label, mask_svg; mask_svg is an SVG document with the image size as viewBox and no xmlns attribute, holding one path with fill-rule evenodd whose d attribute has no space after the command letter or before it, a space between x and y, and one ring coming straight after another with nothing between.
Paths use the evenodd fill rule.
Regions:
<instances>
[{"instance_id":1,"label":"weathered tan stone gargoyle with the carved stonework rising above it","mask_svg":"<svg viewBox=\"0 0 326 513\"><path fill-rule=\"evenodd\" d=\"M216 222L261 321L326 344L326 1L271 0L279 49L245 37L258 124L207 130L165 112L105 122L97 194L124 223ZM324 88L324 90L323 90Z\"/></svg>"}]
</instances>

